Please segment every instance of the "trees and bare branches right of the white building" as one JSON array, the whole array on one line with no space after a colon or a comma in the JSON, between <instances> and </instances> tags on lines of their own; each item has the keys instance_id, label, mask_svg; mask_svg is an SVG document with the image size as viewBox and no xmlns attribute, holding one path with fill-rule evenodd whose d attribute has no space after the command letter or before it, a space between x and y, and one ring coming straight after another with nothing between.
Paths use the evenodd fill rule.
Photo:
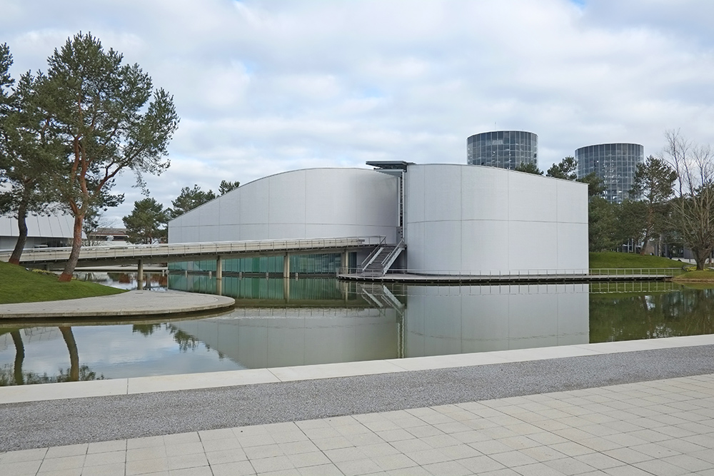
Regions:
<instances>
[{"instance_id":1,"label":"trees and bare branches right of the white building","mask_svg":"<svg viewBox=\"0 0 714 476\"><path fill-rule=\"evenodd\" d=\"M589 247L620 250L631 243L645 254L656 240L670 249L690 249L697 268L703 269L714 250L714 152L679 131L665 132L665 139L662 156L638 164L630 198L622 203L600 197L603 183L594 173L577 179L589 185ZM576 168L575 158L565 157L545 175L576 180ZM517 170L543 175L533 164Z\"/></svg>"}]
</instances>

